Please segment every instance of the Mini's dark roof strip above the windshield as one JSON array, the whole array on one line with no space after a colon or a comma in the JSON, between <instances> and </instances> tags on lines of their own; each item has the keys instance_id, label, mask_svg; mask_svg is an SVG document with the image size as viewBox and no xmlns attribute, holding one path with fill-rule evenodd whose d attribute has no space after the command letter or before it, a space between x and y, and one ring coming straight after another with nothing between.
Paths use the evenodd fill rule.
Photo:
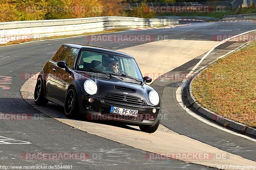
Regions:
<instances>
[{"instance_id":1,"label":"Mini's dark roof strip above the windshield","mask_svg":"<svg viewBox=\"0 0 256 170\"><path fill-rule=\"evenodd\" d=\"M77 43L68 43L68 44L62 44L63 46L68 46L68 47L73 47L73 48L79 48L79 49L88 49L88 50L93 50L93 51L99 51L99 52L104 52L104 53L111 53L115 55L122 55L130 58L134 58L132 55L112 50L109 48L103 48L103 47L98 47L98 46L93 46L93 45L85 45L85 44L77 44Z\"/></svg>"}]
</instances>

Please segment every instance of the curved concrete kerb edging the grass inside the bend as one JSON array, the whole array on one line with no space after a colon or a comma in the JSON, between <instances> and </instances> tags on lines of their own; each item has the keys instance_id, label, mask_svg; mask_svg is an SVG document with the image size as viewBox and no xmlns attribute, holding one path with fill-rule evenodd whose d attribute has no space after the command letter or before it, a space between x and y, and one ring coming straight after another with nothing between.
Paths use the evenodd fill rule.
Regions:
<instances>
[{"instance_id":1,"label":"curved concrete kerb edging the grass inside the bend","mask_svg":"<svg viewBox=\"0 0 256 170\"><path fill-rule=\"evenodd\" d=\"M248 44L248 43L245 43L244 45L236 48L234 51L237 51L237 50L243 48L246 44ZM221 116L221 115L219 115L217 113L214 113L211 110L203 107L202 105L200 105L197 102L197 100L196 100L196 98L195 98L195 96L194 96L194 94L192 92L192 84L193 84L193 81L196 78L196 76L199 73L201 73L203 70L208 68L212 63L215 63L218 59L224 58L227 55L228 54L223 55L223 56L217 58L216 60L212 61L211 63L207 64L206 66L200 68L198 71L196 71L196 73L193 75L193 77L191 77L188 80L187 88L186 88L188 103L190 104L191 107L193 107L195 109L195 111L197 111L200 114L206 116L207 118L211 119L212 121L216 121L216 122L220 123L221 125L223 125L223 127L229 127L231 129L235 129L235 130L237 130L239 132L246 133L246 134L249 134L249 135L252 135L252 136L256 137L256 129L251 128L251 127L247 127L246 125L244 125L242 123L235 122L233 120L225 118L225 117L223 117L223 116Z\"/></svg>"}]
</instances>

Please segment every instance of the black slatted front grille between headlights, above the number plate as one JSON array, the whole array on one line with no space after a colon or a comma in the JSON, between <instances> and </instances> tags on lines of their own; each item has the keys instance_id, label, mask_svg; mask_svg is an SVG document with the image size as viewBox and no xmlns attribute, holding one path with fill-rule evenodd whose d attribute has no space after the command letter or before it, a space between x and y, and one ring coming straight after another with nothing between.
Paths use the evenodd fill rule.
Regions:
<instances>
[{"instance_id":1,"label":"black slatted front grille between headlights, above the number plate","mask_svg":"<svg viewBox=\"0 0 256 170\"><path fill-rule=\"evenodd\" d=\"M146 103L144 100L134 96L128 96L123 94L114 94L114 93L107 93L102 97L104 102L107 103L117 103L123 105L136 105L136 106L145 106Z\"/></svg>"}]
</instances>

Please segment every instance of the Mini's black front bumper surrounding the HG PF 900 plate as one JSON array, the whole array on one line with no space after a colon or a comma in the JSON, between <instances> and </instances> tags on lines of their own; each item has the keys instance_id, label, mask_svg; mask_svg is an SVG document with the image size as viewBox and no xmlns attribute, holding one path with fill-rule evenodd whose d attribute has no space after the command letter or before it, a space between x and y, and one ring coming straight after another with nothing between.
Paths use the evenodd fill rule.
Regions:
<instances>
[{"instance_id":1,"label":"Mini's black front bumper surrounding the HG PF 900 plate","mask_svg":"<svg viewBox=\"0 0 256 170\"><path fill-rule=\"evenodd\" d=\"M93 102L89 102L89 98L93 98ZM85 114L88 120L122 122L127 125L135 126L153 126L157 123L161 114L161 107L148 105L127 106L120 103L105 102L102 98L83 94L78 94L78 102L80 113ZM138 116L134 117L110 113L111 106L138 110ZM154 108L156 109L156 113L153 113Z\"/></svg>"}]
</instances>

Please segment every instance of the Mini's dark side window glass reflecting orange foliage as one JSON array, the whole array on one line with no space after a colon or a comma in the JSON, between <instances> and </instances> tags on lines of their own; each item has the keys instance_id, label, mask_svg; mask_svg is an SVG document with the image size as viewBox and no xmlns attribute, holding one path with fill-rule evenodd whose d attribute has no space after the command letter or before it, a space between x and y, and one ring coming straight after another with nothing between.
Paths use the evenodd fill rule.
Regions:
<instances>
[{"instance_id":1,"label":"Mini's dark side window glass reflecting orange foliage","mask_svg":"<svg viewBox=\"0 0 256 170\"><path fill-rule=\"evenodd\" d=\"M59 50L55 53L55 55L52 57L52 61L56 63L58 61L65 61L68 64L68 67L73 69L78 51L79 49L77 48L61 46Z\"/></svg>"}]
</instances>

